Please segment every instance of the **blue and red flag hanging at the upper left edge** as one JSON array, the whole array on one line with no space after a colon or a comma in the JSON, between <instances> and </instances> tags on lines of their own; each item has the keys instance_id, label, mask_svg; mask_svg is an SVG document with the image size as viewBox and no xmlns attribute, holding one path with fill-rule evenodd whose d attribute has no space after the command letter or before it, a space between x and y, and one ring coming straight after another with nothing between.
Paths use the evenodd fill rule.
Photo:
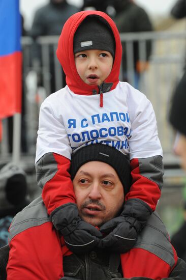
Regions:
<instances>
[{"instance_id":1,"label":"blue and red flag hanging at the upper left edge","mask_svg":"<svg viewBox=\"0 0 186 280\"><path fill-rule=\"evenodd\" d=\"M0 120L21 113L20 40L19 0L0 0Z\"/></svg>"}]
</instances>

